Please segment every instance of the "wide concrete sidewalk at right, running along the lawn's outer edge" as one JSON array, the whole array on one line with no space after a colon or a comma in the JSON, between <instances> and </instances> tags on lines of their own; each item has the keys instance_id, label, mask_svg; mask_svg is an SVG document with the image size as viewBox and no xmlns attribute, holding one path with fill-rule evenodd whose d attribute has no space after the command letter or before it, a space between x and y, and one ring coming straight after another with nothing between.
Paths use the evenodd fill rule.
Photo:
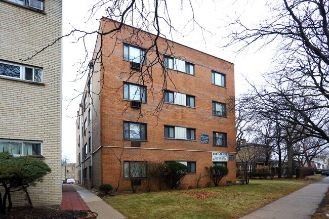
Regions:
<instances>
[{"instance_id":1,"label":"wide concrete sidewalk at right, running along the lawn's outer edge","mask_svg":"<svg viewBox=\"0 0 329 219\"><path fill-rule=\"evenodd\" d=\"M329 177L284 196L239 219L310 219L329 187Z\"/></svg>"}]
</instances>

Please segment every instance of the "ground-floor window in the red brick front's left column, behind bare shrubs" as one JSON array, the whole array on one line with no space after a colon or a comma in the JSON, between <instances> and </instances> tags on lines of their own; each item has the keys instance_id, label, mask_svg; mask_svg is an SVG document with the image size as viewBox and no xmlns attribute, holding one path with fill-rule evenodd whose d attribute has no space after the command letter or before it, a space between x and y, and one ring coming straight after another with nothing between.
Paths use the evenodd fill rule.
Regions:
<instances>
[{"instance_id":1,"label":"ground-floor window in the red brick front's left column, behind bare shrubs","mask_svg":"<svg viewBox=\"0 0 329 219\"><path fill-rule=\"evenodd\" d=\"M124 161L125 178L144 178L146 168L144 161Z\"/></svg>"}]
</instances>

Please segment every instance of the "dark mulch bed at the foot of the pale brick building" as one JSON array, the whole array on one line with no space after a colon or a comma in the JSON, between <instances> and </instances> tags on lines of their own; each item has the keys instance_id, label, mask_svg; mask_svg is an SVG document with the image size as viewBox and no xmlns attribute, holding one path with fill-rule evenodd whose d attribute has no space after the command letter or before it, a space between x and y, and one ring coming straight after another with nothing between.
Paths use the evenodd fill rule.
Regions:
<instances>
[{"instance_id":1,"label":"dark mulch bed at the foot of the pale brick building","mask_svg":"<svg viewBox=\"0 0 329 219\"><path fill-rule=\"evenodd\" d=\"M1 219L87 219L96 218L96 214L83 210L58 210L51 207L15 207Z\"/></svg>"}]
</instances>

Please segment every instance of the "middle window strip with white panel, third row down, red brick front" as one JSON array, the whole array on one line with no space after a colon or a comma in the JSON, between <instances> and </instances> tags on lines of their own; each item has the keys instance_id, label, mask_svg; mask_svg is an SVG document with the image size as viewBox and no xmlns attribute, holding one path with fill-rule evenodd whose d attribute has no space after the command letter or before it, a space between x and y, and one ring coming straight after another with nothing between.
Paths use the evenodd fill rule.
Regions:
<instances>
[{"instance_id":1,"label":"middle window strip with white panel, third row down, red brick front","mask_svg":"<svg viewBox=\"0 0 329 219\"><path fill-rule=\"evenodd\" d=\"M165 138L195 141L195 128L165 125Z\"/></svg>"}]
</instances>

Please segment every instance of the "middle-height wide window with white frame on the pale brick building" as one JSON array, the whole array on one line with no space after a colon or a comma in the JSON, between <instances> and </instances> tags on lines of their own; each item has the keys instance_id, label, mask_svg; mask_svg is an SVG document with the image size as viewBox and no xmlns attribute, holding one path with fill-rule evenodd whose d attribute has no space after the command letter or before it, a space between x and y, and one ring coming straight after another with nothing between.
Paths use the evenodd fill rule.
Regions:
<instances>
[{"instance_id":1,"label":"middle-height wide window with white frame on the pale brick building","mask_svg":"<svg viewBox=\"0 0 329 219\"><path fill-rule=\"evenodd\" d=\"M41 68L0 61L0 76L41 83L43 70Z\"/></svg>"}]
</instances>

